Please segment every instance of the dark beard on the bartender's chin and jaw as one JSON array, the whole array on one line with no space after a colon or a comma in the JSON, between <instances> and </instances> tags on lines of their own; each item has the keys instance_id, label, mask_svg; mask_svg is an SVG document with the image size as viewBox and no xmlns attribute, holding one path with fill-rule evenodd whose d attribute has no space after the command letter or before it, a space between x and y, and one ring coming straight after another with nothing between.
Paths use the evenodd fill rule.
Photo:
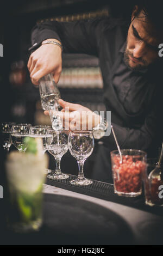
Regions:
<instances>
[{"instance_id":1,"label":"dark beard on the bartender's chin and jaw","mask_svg":"<svg viewBox=\"0 0 163 256\"><path fill-rule=\"evenodd\" d=\"M129 56L131 56L131 57L134 59L133 54L131 54L131 53L127 50L127 48L126 48L126 50L125 50L125 52L124 52L124 62L126 63L126 65L127 65L130 69L135 70L135 71L143 71L143 70L147 69L148 64L147 64L146 60L142 59L141 57L140 57L140 58L135 58L135 59L141 61L141 62L143 63L143 65L137 64L137 65L135 65L134 67L131 67L131 66L129 65L129 60L130 60Z\"/></svg>"}]
</instances>

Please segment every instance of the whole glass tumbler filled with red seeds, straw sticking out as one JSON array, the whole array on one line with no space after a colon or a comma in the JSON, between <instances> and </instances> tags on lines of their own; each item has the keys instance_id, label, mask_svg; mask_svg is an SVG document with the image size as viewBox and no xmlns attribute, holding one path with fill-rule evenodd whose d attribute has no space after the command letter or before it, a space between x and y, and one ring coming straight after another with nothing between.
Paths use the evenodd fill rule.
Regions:
<instances>
[{"instance_id":1,"label":"whole glass tumbler filled with red seeds, straw sticking out","mask_svg":"<svg viewBox=\"0 0 163 256\"><path fill-rule=\"evenodd\" d=\"M114 191L118 196L139 196L142 193L142 176L147 166L147 154L135 149L122 149L121 153L122 163L118 150L110 153Z\"/></svg>"}]
</instances>

